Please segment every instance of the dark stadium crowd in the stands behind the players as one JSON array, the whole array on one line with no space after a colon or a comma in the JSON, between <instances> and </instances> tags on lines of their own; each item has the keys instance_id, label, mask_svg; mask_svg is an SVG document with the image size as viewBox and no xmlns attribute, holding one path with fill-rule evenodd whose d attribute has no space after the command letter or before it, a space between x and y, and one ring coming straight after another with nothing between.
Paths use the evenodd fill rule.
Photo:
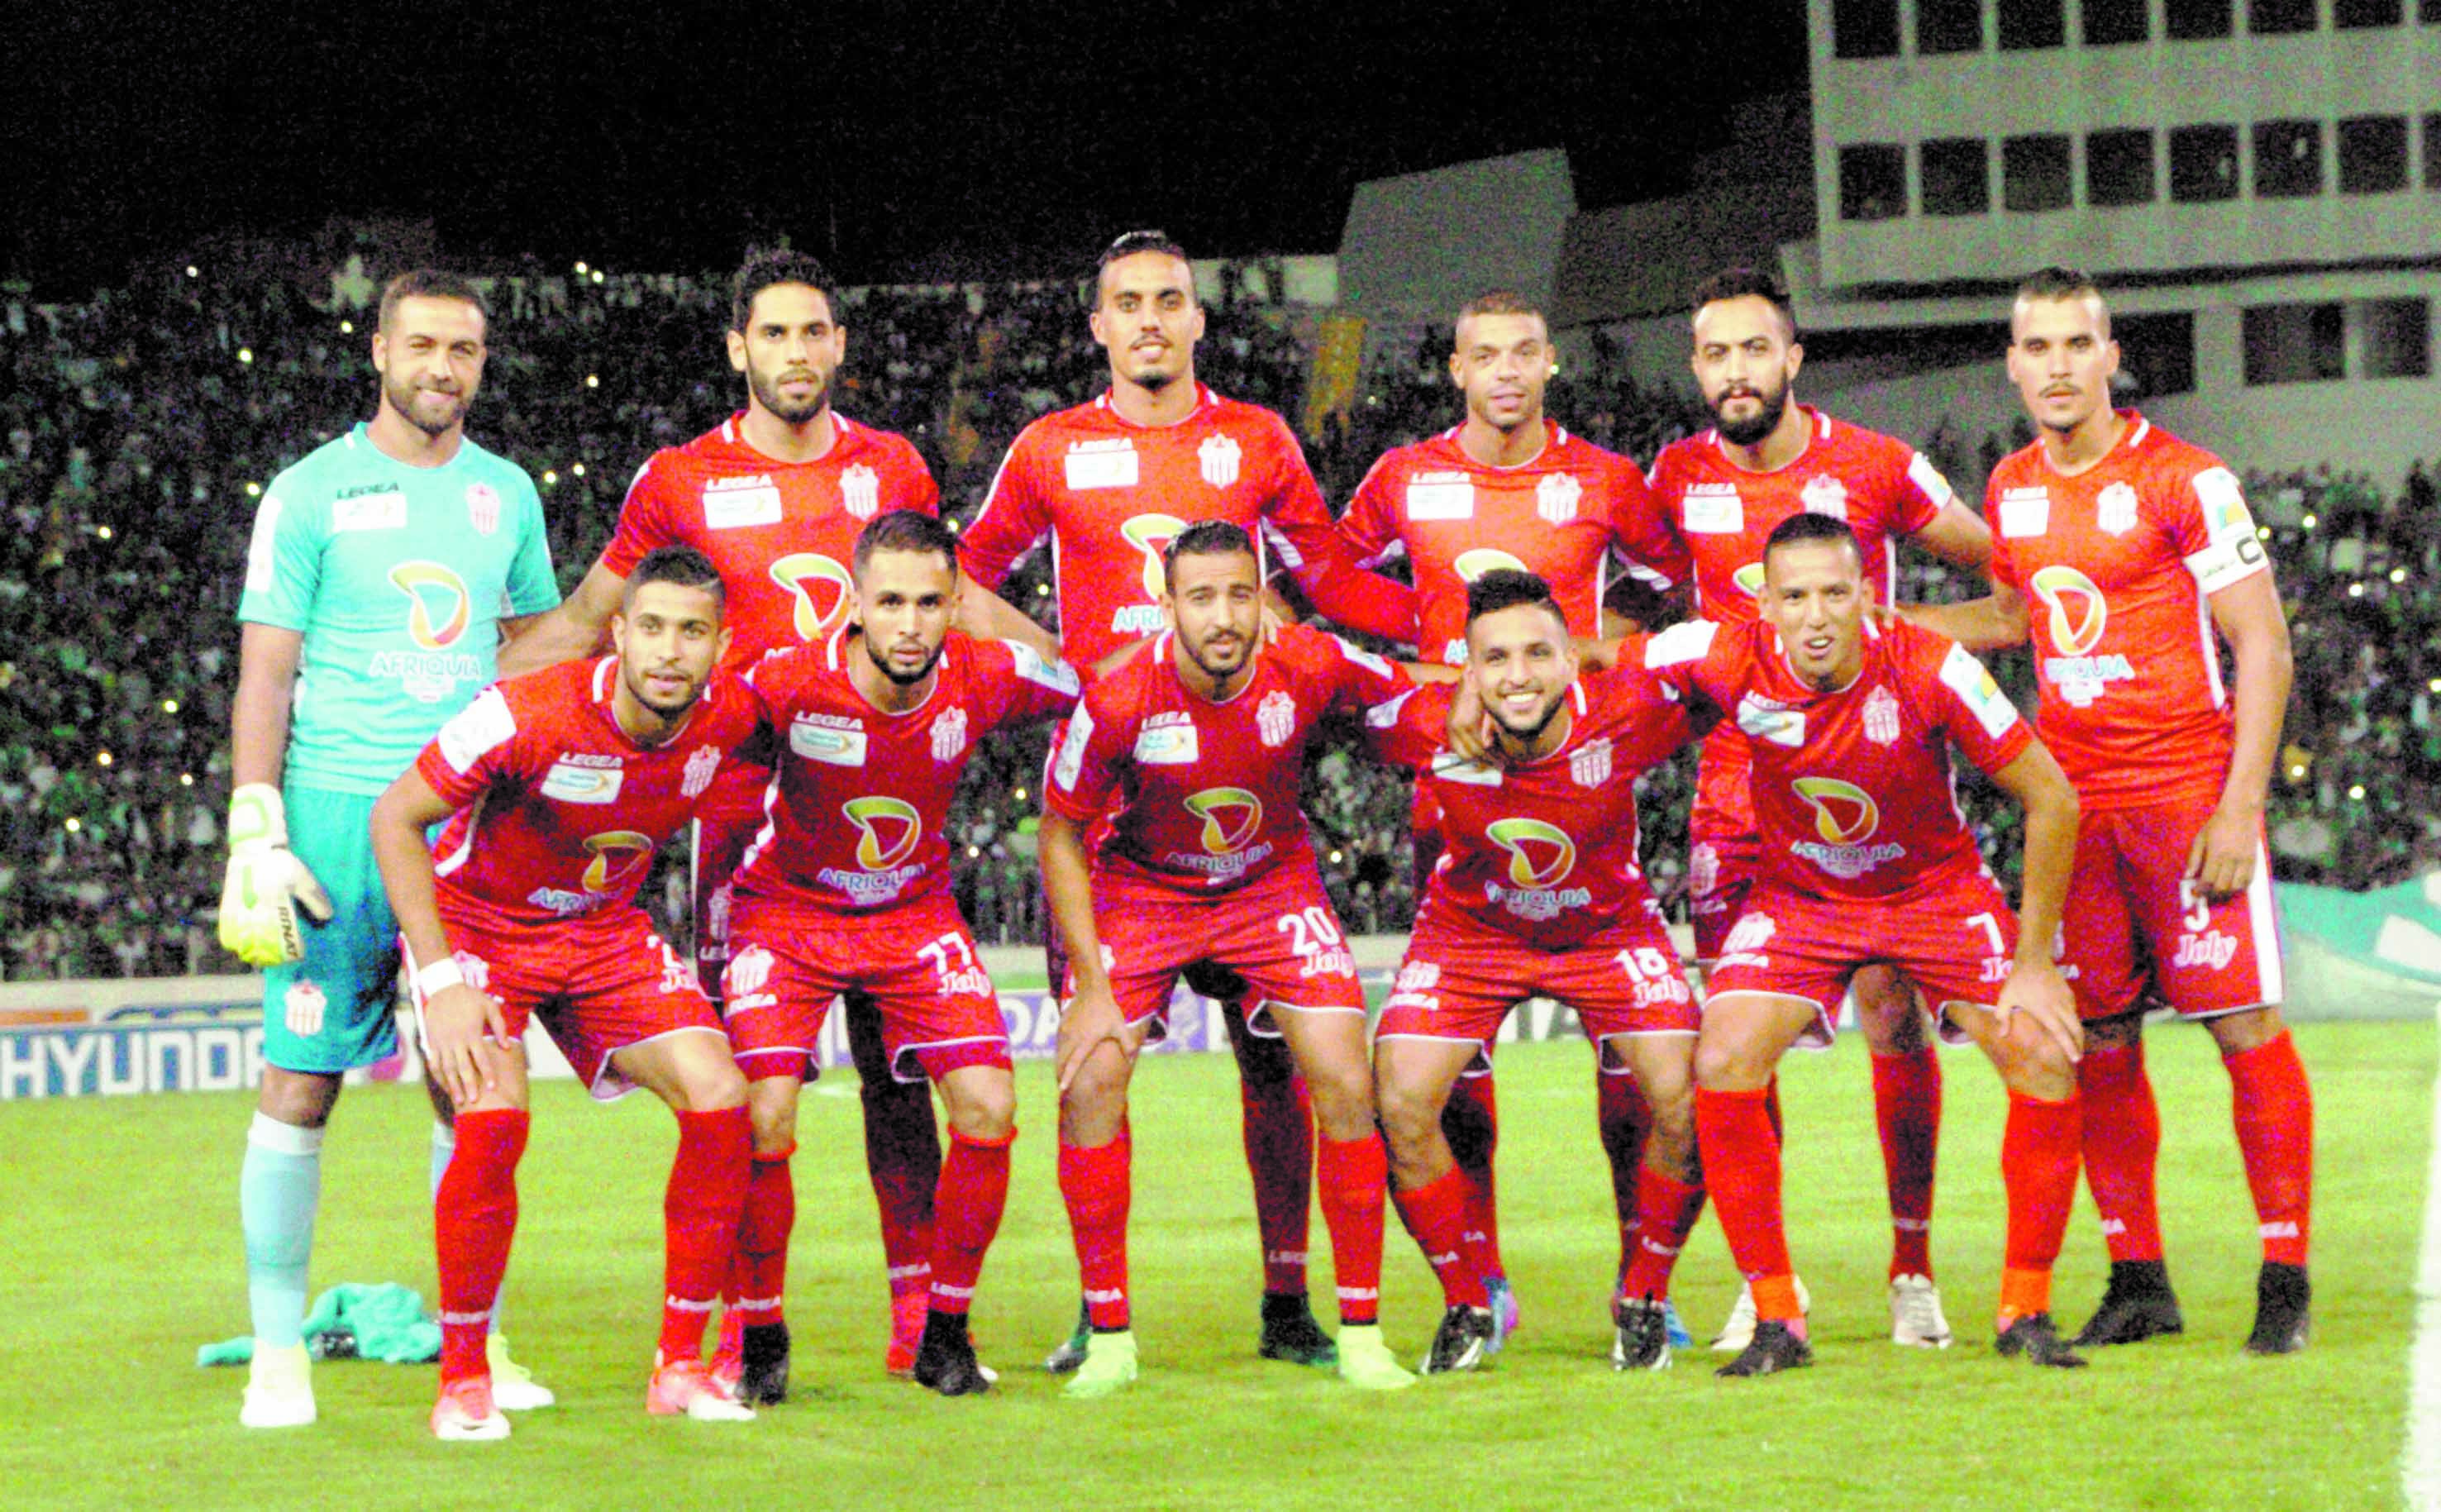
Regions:
<instances>
[{"instance_id":1,"label":"dark stadium crowd in the stands behind the players","mask_svg":"<svg viewBox=\"0 0 2441 1512\"><path fill-rule=\"evenodd\" d=\"M1311 332L1225 281L1199 352L1206 383L1299 415ZM344 291L342 291L344 293ZM1008 440L1106 381L1064 283L852 291L840 408L925 454L969 515ZM720 362L720 278L532 276L496 291L471 430L542 486L564 586L593 562L627 476L737 405ZM293 283L168 276L81 305L0 310L0 980L234 970L212 940L234 691L234 603L261 486L364 410L371 313ZM1438 332L1435 332L1438 335ZM1311 437L1343 503L1384 449L1450 425L1433 340L1365 376ZM1565 371L1550 413L1650 462L1699 425L1692 396L1638 386L1606 349ZM1926 442L1960 486L2004 449ZM2014 445L2014 442L2007 442ZM1975 462L1970 462L1970 457ZM2441 508L2436 471L2248 476L2295 628L2287 747L2270 794L2277 874L2373 887L2441 865ZM1906 564L1906 596L1960 596ZM1040 574L1018 596L1050 616ZM2031 706L2026 657L1994 669ZM1675 904L1694 752L1650 772L1655 892ZM959 806L959 904L984 940L1040 931L1042 735L989 750ZM2014 806L1967 791L1994 855ZM1308 813L1333 901L1357 931L1413 911L1406 779L1352 755L1313 762ZM683 914L683 911L674 911Z\"/></svg>"}]
</instances>

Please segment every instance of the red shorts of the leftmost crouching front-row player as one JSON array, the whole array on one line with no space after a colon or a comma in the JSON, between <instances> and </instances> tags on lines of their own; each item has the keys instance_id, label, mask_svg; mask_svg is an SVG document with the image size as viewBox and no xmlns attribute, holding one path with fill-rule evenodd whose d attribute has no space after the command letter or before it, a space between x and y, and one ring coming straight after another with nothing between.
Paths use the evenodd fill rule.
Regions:
<instances>
[{"instance_id":1,"label":"red shorts of the leftmost crouching front-row player","mask_svg":"<svg viewBox=\"0 0 2441 1512\"><path fill-rule=\"evenodd\" d=\"M642 909L610 906L520 931L481 928L442 911L449 955L476 992L488 992L525 1036L542 1023L586 1092L610 1102L635 1092L610 1058L669 1033L720 1033L720 1014L696 972L654 933ZM422 994L415 994L422 1009Z\"/></svg>"}]
</instances>

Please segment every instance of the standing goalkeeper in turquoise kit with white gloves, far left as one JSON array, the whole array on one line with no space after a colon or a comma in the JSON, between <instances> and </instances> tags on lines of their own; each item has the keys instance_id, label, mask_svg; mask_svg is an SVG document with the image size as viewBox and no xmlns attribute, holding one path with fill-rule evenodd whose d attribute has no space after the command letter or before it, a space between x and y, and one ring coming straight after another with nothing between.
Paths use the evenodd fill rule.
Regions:
<instances>
[{"instance_id":1,"label":"standing goalkeeper in turquoise kit with white gloves, far left","mask_svg":"<svg viewBox=\"0 0 2441 1512\"><path fill-rule=\"evenodd\" d=\"M466 440L483 327L464 278L393 278L373 330L373 418L271 479L247 547L220 943L269 967L264 1085L237 1182L249 1429L315 1419L300 1326L322 1129L342 1077L398 1043L398 923L364 850L366 818L491 681L500 630L559 601L532 479ZM434 1111L439 1185L452 1136L437 1099ZM498 1336L493 1348L500 1402L547 1407Z\"/></svg>"}]
</instances>

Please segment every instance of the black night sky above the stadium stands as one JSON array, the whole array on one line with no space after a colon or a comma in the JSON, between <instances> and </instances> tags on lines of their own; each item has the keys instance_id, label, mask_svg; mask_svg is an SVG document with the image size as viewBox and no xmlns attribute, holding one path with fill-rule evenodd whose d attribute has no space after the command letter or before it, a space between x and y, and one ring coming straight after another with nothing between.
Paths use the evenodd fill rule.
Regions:
<instances>
[{"instance_id":1,"label":"black night sky above the stadium stands","mask_svg":"<svg viewBox=\"0 0 2441 1512\"><path fill-rule=\"evenodd\" d=\"M244 10L10 20L0 271L76 293L359 213L637 269L784 232L847 281L1040 271L1140 225L1328 252L1360 181L1469 156L1567 147L1582 205L1672 193L1806 66L1799 0Z\"/></svg>"}]
</instances>

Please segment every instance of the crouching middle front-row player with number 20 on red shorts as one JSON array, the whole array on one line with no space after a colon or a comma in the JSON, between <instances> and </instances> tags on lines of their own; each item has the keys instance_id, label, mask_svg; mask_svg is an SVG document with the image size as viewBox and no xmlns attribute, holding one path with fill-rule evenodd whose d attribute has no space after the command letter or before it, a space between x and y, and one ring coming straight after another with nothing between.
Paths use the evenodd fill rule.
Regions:
<instances>
[{"instance_id":1,"label":"crouching middle front-row player with number 20 on red shorts","mask_svg":"<svg viewBox=\"0 0 2441 1512\"><path fill-rule=\"evenodd\" d=\"M1286 625L1262 645L1252 537L1196 520L1162 550L1169 633L1094 684L1052 760L1042 882L1069 948L1059 1023L1059 1194L1091 1326L1072 1397L1135 1380L1128 1314L1128 1082L1191 962L1247 984L1313 1089L1340 1378L1413 1385L1382 1343L1382 1136L1365 989L1330 911L1299 782L1313 725L1374 718L1408 689L1389 662ZM1086 860L1084 835L1098 835Z\"/></svg>"}]
</instances>

